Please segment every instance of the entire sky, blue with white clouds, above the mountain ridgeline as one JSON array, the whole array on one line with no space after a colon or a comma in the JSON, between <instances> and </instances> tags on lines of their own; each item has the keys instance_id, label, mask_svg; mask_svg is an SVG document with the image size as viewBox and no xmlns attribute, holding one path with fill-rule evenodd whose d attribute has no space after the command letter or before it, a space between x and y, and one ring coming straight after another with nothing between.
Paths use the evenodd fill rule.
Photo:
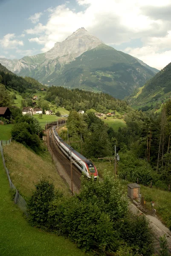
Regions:
<instances>
[{"instance_id":1,"label":"entire sky, blue with white clouds, above the mountain ridgeline","mask_svg":"<svg viewBox=\"0 0 171 256\"><path fill-rule=\"evenodd\" d=\"M80 27L161 70L171 62L171 0L0 0L0 58L51 49Z\"/></svg>"}]
</instances>

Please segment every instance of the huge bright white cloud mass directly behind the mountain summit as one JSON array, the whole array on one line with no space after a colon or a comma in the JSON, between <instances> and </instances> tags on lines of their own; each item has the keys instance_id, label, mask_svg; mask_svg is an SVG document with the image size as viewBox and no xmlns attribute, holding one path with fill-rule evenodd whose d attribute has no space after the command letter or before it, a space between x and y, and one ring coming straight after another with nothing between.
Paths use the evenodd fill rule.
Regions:
<instances>
[{"instance_id":1,"label":"huge bright white cloud mass directly behind the mountain summit","mask_svg":"<svg viewBox=\"0 0 171 256\"><path fill-rule=\"evenodd\" d=\"M125 51L136 57L140 56L139 58L148 61L147 64L152 63L154 67L162 67L169 61L170 57L166 55L170 56L171 20L170 18L167 20L167 17L162 19L161 12L162 8L165 10L171 8L170 0L76 0L76 2L84 7L84 11L76 12L67 5L49 8L47 10L49 19L46 24L38 23L34 28L26 30L27 34L35 35L29 41L43 45L41 51L46 52L55 42L63 41L83 26L104 43L111 45L129 43L132 39L140 38L142 48L135 46L136 49L125 49ZM154 8L155 17L150 15ZM148 9L150 14L147 12ZM33 15L34 21L38 21L38 14Z\"/></svg>"}]
</instances>

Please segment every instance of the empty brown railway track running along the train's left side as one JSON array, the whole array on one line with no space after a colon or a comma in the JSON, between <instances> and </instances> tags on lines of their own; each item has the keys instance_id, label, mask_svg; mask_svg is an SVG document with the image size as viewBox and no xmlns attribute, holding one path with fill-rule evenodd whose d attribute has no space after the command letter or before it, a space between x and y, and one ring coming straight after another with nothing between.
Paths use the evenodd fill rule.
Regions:
<instances>
[{"instance_id":1,"label":"empty brown railway track running along the train's left side","mask_svg":"<svg viewBox=\"0 0 171 256\"><path fill-rule=\"evenodd\" d=\"M49 131L51 133L51 129L49 129ZM48 132L48 145L52 145L53 155L57 158L57 160L61 163L61 165L66 170L67 174L71 177L70 160L58 148L58 145L55 143L55 140L53 138L53 134L51 133L49 136L49 132ZM81 178L81 172L76 168L75 165L72 164L72 180L78 189L81 188L80 178Z\"/></svg>"}]
</instances>

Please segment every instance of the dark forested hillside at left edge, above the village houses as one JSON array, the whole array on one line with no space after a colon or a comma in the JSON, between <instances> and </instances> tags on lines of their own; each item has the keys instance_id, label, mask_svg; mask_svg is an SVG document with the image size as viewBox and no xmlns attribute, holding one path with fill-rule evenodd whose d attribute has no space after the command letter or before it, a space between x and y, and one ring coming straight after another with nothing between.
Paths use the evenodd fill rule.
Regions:
<instances>
[{"instance_id":1,"label":"dark forested hillside at left edge, above the village houses","mask_svg":"<svg viewBox=\"0 0 171 256\"><path fill-rule=\"evenodd\" d=\"M21 76L16 76L11 71L7 70L6 67L0 64L0 84L4 84L6 88L11 88L19 93L24 93L27 89L41 88L40 84L35 79L26 77L24 79Z\"/></svg>"}]
</instances>

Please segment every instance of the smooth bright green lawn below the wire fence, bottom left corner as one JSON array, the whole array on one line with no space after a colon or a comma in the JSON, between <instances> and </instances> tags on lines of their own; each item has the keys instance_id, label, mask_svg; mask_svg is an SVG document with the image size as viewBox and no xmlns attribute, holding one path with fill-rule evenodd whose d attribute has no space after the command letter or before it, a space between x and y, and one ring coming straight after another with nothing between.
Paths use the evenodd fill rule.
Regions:
<instances>
[{"instance_id":1,"label":"smooth bright green lawn below the wire fence, bottom left corner","mask_svg":"<svg viewBox=\"0 0 171 256\"><path fill-rule=\"evenodd\" d=\"M68 239L31 227L9 194L0 156L0 256L85 256Z\"/></svg>"}]
</instances>

